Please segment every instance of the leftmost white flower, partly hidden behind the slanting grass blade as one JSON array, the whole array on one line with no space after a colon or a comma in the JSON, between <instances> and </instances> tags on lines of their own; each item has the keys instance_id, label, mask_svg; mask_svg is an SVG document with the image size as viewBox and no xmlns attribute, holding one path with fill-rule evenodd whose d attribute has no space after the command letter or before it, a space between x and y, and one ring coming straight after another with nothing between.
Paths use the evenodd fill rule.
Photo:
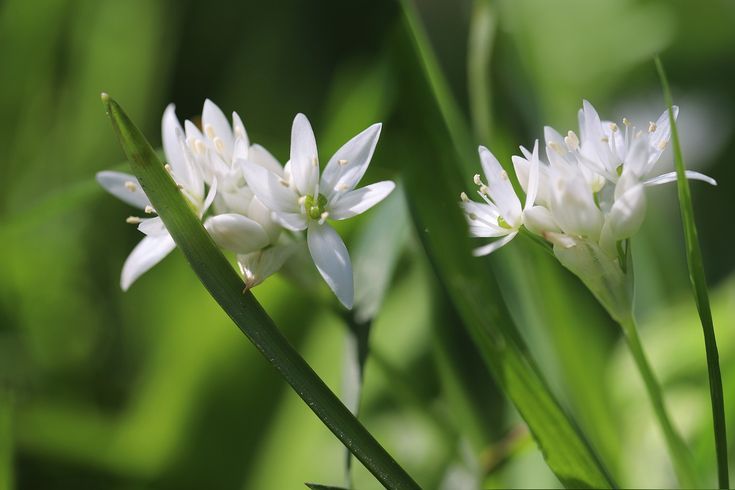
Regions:
<instances>
[{"instance_id":1,"label":"leftmost white flower, partly hidden behind the slanting grass blade","mask_svg":"<svg viewBox=\"0 0 735 490\"><path fill-rule=\"evenodd\" d=\"M187 154L183 144L181 126L176 119L173 104L166 108L161 127L163 149L168 162L166 168L201 218L212 204L217 190L216 181L213 182L209 193L205 197L201 172ZM143 192L143 188L134 176L122 172L105 171L97 174L97 181L105 190L120 200L143 210L146 214L155 213L148 197ZM146 237L140 241L125 260L120 277L120 287L123 291L127 291L138 277L176 248L176 244L166 230L161 218L130 216L126 221L137 224L138 229Z\"/></svg>"}]
</instances>

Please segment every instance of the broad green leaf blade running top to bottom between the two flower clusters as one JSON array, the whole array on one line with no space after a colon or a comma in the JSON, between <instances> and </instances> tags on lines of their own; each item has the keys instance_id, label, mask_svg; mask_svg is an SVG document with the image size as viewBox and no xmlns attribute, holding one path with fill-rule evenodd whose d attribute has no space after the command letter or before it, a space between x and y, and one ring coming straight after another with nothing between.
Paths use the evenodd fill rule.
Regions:
<instances>
[{"instance_id":1,"label":"broad green leaf blade running top to bottom between the two flower clusters","mask_svg":"<svg viewBox=\"0 0 735 490\"><path fill-rule=\"evenodd\" d=\"M457 201L462 180L459 165L474 155L474 145L413 3L402 0L401 5L413 45L411 52L405 53L408 61L399 62L403 69L399 78L413 82L404 90L403 100L412 102L413 108L423 108L423 112L397 111L399 115L411 114L401 127L413 128L414 132L400 138L403 144L395 148L395 160L404 162L406 190L419 236L445 293L489 369L528 424L551 470L569 488L613 487L612 478L528 356L489 261L472 257ZM417 55L420 66L416 64ZM425 77L417 80L416 74L421 77L422 72ZM447 148L451 145L441 144L447 131L455 151ZM406 152L406 146L411 146L414 154Z\"/></svg>"}]
</instances>

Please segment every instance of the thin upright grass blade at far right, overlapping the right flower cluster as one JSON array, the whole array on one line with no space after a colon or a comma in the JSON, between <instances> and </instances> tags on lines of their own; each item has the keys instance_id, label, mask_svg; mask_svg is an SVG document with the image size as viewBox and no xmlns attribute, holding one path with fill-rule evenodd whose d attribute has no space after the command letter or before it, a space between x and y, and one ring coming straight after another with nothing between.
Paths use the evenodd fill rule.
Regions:
<instances>
[{"instance_id":1,"label":"thin upright grass blade at far right, overlapping the right flower cluster","mask_svg":"<svg viewBox=\"0 0 735 490\"><path fill-rule=\"evenodd\" d=\"M669 110L669 123L671 124L671 146L674 151L674 164L676 166L676 188L679 194L679 209L681 221L684 226L684 242L686 244L687 266L689 267L689 280L692 283L694 301L697 304L697 312L702 323L704 333L704 345L707 353L707 372L709 374L709 391L712 400L712 420L715 432L715 450L717 452L717 477L720 488L729 488L729 474L727 467L727 431L725 428L725 401L722 394L722 374L720 373L720 355L717 351L717 339L715 338L715 326L712 321L712 311L707 291L707 280L704 275L702 264L702 251L699 247L697 236L697 225L694 222L694 207L692 206L692 195L689 190L689 181L685 175L684 157L681 153L679 143L679 131L676 127L676 119L672 109L673 100L669 81L666 78L661 60L656 57L656 69L658 70L661 86L664 91L664 101Z\"/></svg>"}]
</instances>

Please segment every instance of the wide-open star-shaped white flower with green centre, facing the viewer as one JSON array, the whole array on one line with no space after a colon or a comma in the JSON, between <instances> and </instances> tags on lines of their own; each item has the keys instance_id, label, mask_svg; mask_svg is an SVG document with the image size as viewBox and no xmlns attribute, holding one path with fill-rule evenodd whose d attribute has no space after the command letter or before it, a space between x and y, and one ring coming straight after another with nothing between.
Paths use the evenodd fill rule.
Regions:
<instances>
[{"instance_id":1,"label":"wide-open star-shaped white flower with green centre, facing the viewer","mask_svg":"<svg viewBox=\"0 0 735 490\"><path fill-rule=\"evenodd\" d=\"M319 273L340 302L352 307L352 265L344 242L327 219L356 216L384 199L395 187L383 181L355 189L372 158L380 124L370 126L332 156L320 176L316 140L308 119L298 114L291 132L291 155L283 172L244 164L248 186L282 226L307 232L309 252Z\"/></svg>"}]
</instances>

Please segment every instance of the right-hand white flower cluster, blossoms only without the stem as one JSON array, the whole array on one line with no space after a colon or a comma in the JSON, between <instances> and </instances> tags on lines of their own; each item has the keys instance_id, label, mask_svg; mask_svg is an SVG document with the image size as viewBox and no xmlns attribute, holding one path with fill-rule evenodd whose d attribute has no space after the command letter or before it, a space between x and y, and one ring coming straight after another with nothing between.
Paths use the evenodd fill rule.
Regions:
<instances>
[{"instance_id":1,"label":"right-hand white flower cluster, blossoms only without the stem","mask_svg":"<svg viewBox=\"0 0 735 490\"><path fill-rule=\"evenodd\" d=\"M678 114L676 107L674 114ZM650 176L671 137L668 111L639 130L626 118L621 125L600 120L592 104L584 101L579 136L573 131L562 136L547 126L544 137L548 162L539 157L538 141L533 151L521 147L523 156L513 157L516 177L526 193L523 207L498 160L480 147L487 184L480 175L475 175L475 184L483 202L471 201L462 193L461 206L472 236L500 239L476 249L475 254L497 250L525 228L553 244L566 266L568 254L592 248L596 261L599 257L618 260L624 270L620 244L643 222L644 188L676 180L676 172ZM687 171L687 177L716 185L698 172Z\"/></svg>"}]
</instances>

